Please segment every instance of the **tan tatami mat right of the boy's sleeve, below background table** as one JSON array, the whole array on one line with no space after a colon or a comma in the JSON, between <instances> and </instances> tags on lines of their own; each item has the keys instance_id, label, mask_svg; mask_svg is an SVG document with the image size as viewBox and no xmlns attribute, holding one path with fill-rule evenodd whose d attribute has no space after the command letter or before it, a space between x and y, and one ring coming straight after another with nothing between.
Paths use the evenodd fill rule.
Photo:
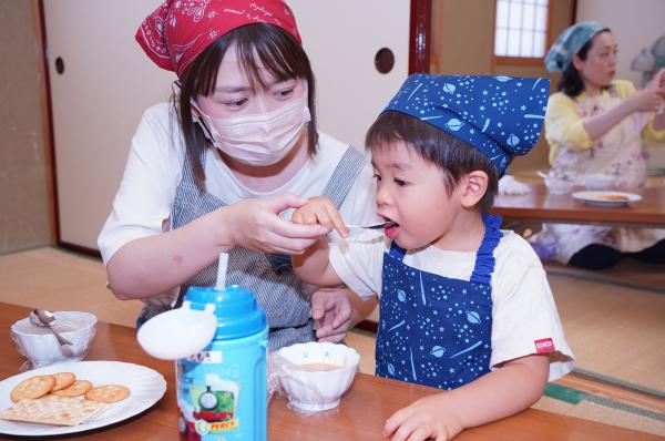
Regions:
<instances>
[{"instance_id":1,"label":"tan tatami mat right of the boy's sleeve, below background table","mask_svg":"<svg viewBox=\"0 0 665 441\"><path fill-rule=\"evenodd\" d=\"M549 280L579 368L665 391L665 294L565 275Z\"/></svg>"}]
</instances>

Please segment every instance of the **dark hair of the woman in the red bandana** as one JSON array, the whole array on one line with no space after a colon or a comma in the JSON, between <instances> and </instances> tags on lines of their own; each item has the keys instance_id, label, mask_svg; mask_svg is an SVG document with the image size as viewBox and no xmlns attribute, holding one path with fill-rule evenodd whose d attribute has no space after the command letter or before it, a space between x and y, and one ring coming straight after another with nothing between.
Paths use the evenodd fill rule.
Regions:
<instances>
[{"instance_id":1,"label":"dark hair of the woman in the red bandana","mask_svg":"<svg viewBox=\"0 0 665 441\"><path fill-rule=\"evenodd\" d=\"M236 28L219 37L214 43L201 52L180 78L180 94L172 96L174 109L185 142L187 157L192 163L196 186L203 191L205 171L202 163L204 148L211 142L202 129L192 119L191 100L198 95L209 96L215 92L217 72L224 54L233 44L236 45L238 63L247 74L253 92L265 89L265 79L257 66L257 61L278 81L291 79L307 80L308 105L311 121L308 126L308 152L316 153L318 132L316 130L315 79L307 54L303 47L286 31L272 24L253 23Z\"/></svg>"}]
</instances>

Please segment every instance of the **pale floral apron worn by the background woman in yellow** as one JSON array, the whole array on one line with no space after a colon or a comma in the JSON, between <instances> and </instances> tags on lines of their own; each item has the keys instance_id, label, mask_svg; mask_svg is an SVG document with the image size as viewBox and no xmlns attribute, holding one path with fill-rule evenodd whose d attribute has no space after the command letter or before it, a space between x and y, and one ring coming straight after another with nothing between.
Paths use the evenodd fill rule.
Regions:
<instances>
[{"instance_id":1,"label":"pale floral apron worn by the background woman in yellow","mask_svg":"<svg viewBox=\"0 0 665 441\"><path fill-rule=\"evenodd\" d=\"M610 93L575 101L580 117L604 113L622 103L613 88ZM648 122L648 113L635 112L610 130L593 147L575 151L561 145L550 173L565 176L577 185L584 185L584 176L607 174L615 176L617 189L644 187L646 160L642 130ZM602 225L544 224L543 230L531 242L556 244L554 258L567 264L571 257L591 244L611 246L623 253L636 253L665 238L665 229L623 228Z\"/></svg>"}]
</instances>

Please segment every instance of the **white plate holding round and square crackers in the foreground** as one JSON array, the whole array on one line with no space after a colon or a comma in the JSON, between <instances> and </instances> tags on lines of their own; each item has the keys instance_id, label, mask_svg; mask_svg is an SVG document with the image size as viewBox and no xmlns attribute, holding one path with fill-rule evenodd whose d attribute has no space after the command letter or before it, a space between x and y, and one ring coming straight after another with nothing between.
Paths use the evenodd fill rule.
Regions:
<instances>
[{"instance_id":1,"label":"white plate holding round and square crackers in the foreground","mask_svg":"<svg viewBox=\"0 0 665 441\"><path fill-rule=\"evenodd\" d=\"M130 389L130 397L117 401L90 420L74 427L39 424L0 420L0 433L43 437L82 432L125 420L153 406L166 391L166 381L160 372L140 365L120 361L80 361L59 363L30 370L0 381L0 412L13 406L9 394L19 382L28 377L73 372L78 380L88 380L92 386L122 384Z\"/></svg>"}]
</instances>

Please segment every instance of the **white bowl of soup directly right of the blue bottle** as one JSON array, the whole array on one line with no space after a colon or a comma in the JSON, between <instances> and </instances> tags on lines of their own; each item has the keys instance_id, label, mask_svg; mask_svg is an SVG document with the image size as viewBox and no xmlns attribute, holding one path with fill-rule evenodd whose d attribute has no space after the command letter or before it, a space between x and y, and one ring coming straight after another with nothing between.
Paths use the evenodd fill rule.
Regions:
<instances>
[{"instance_id":1,"label":"white bowl of soup directly right of the blue bottle","mask_svg":"<svg viewBox=\"0 0 665 441\"><path fill-rule=\"evenodd\" d=\"M337 407L360 362L360 355L354 348L330 342L293 345L277 353L289 362L283 366L280 377L289 403L307 412Z\"/></svg>"}]
</instances>

